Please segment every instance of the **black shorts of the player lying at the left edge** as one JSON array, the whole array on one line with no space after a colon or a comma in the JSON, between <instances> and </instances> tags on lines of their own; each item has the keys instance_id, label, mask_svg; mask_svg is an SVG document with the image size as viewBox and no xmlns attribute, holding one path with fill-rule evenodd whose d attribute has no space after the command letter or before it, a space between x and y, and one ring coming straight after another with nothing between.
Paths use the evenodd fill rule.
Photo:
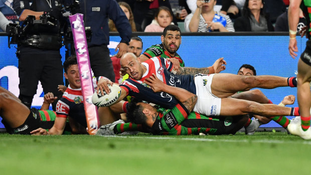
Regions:
<instances>
[{"instance_id":1,"label":"black shorts of the player lying at the left edge","mask_svg":"<svg viewBox=\"0 0 311 175\"><path fill-rule=\"evenodd\" d=\"M31 131L40 127L41 120L38 109L32 108L25 122L19 127L11 128L4 120L2 122L10 134L30 134Z\"/></svg>"}]
</instances>

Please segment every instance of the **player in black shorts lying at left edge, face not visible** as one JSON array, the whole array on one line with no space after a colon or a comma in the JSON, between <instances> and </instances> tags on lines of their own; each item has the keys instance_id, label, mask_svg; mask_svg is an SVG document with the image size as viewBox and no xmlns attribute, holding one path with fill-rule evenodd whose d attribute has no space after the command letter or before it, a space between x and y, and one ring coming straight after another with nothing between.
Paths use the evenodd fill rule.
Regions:
<instances>
[{"instance_id":1,"label":"player in black shorts lying at left edge, face not visible","mask_svg":"<svg viewBox=\"0 0 311 175\"><path fill-rule=\"evenodd\" d=\"M40 110L29 109L14 94L0 87L0 115L7 132L31 134L30 132L38 127L44 130L50 129L54 124L56 113L48 109L56 98L52 93L47 93L44 95L44 102ZM65 123L62 133L71 133L68 122Z\"/></svg>"}]
</instances>

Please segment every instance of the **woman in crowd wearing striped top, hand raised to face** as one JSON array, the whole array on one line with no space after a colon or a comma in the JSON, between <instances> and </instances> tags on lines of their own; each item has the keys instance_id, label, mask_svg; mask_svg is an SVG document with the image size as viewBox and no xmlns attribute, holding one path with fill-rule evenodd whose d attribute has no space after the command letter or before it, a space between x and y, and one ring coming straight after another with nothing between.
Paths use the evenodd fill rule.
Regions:
<instances>
[{"instance_id":1,"label":"woman in crowd wearing striped top, hand raised to face","mask_svg":"<svg viewBox=\"0 0 311 175\"><path fill-rule=\"evenodd\" d=\"M229 16L214 11L216 0L209 3L197 0L197 9L185 19L186 32L234 32ZM217 19L217 22L213 20Z\"/></svg>"}]
</instances>

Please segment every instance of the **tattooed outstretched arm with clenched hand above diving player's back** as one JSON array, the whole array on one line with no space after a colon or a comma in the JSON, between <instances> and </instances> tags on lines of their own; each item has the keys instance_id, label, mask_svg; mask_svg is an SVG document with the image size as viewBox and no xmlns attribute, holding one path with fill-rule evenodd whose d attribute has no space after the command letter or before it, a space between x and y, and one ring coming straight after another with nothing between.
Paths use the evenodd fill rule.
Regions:
<instances>
[{"instance_id":1,"label":"tattooed outstretched arm with clenched hand above diving player's back","mask_svg":"<svg viewBox=\"0 0 311 175\"><path fill-rule=\"evenodd\" d=\"M178 70L176 70L177 75L196 75L196 74L214 74L219 73L226 69L226 61L224 58L220 58L215 61L213 66L208 68L191 68L191 67L180 67Z\"/></svg>"}]
</instances>

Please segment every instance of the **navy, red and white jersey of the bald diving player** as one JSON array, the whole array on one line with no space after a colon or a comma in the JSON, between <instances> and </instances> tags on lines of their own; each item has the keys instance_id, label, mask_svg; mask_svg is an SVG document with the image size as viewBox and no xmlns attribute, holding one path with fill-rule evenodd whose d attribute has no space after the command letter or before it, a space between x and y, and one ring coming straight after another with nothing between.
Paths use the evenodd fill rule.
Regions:
<instances>
[{"instance_id":1,"label":"navy, red and white jersey of the bald diving player","mask_svg":"<svg viewBox=\"0 0 311 175\"><path fill-rule=\"evenodd\" d=\"M194 76L174 75L171 73L173 70L173 64L171 64L170 61L162 57L153 57L141 64L147 68L147 71L142 78L140 80L128 78L120 85L120 87L126 91L127 95L149 103L158 104L164 108L172 109L176 106L178 104L178 100L175 97L164 92L154 93L148 85L143 83L143 81L152 74L157 75L157 77L167 85L186 89L196 94Z\"/></svg>"}]
</instances>

